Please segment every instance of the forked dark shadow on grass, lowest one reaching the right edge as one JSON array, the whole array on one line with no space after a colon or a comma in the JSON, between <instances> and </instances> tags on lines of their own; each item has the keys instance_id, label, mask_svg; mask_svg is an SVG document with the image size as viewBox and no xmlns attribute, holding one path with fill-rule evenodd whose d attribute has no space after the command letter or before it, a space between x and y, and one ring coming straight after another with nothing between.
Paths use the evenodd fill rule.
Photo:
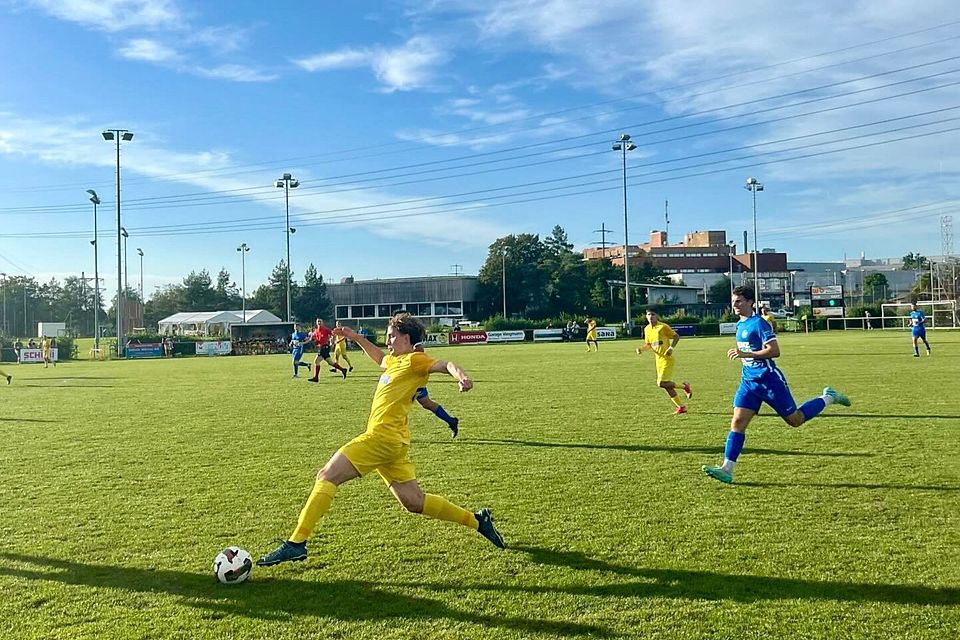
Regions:
<instances>
[{"instance_id":1,"label":"forked dark shadow on grass, lowest one reaching the right edge","mask_svg":"<svg viewBox=\"0 0 960 640\"><path fill-rule=\"evenodd\" d=\"M507 585L462 583L409 583L396 586L419 586L435 591L515 591L519 593L564 593L578 596L620 598L673 598L678 600L727 600L752 603L767 600L833 600L837 602L877 602L923 606L956 606L960 604L960 588L925 587L921 585L872 584L777 578L772 576L728 575L713 571L682 569L647 569L613 564L591 558L578 551L555 551L532 546L514 546L530 556L530 561L595 571L637 580L615 584L592 584L584 578L580 584L567 586Z\"/></svg>"}]
</instances>

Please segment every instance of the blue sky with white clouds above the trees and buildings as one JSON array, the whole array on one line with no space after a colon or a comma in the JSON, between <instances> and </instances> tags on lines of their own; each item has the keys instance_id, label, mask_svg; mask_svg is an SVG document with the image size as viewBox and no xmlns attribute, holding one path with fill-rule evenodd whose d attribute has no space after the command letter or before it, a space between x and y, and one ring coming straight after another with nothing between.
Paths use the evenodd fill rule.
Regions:
<instances>
[{"instance_id":1,"label":"blue sky with white clouds above the trees and buildings","mask_svg":"<svg viewBox=\"0 0 960 640\"><path fill-rule=\"evenodd\" d=\"M791 260L940 253L960 188L960 5L0 0L0 270L116 286L285 255L328 281L476 273L496 237L751 226ZM958 218L960 225L960 218Z\"/></svg>"}]
</instances>

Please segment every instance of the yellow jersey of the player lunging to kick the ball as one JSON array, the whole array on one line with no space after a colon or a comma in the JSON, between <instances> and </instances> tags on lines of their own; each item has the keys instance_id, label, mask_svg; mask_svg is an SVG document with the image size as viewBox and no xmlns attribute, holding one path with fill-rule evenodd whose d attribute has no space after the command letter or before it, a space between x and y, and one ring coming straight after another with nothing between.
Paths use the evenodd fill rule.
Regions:
<instances>
[{"instance_id":1,"label":"yellow jersey of the player lunging to kick the ball","mask_svg":"<svg viewBox=\"0 0 960 640\"><path fill-rule=\"evenodd\" d=\"M408 416L417 389L427 386L430 367L437 360L427 354L414 351L402 356L386 356L384 372L373 395L367 433L385 436L391 440L410 444Z\"/></svg>"}]
</instances>

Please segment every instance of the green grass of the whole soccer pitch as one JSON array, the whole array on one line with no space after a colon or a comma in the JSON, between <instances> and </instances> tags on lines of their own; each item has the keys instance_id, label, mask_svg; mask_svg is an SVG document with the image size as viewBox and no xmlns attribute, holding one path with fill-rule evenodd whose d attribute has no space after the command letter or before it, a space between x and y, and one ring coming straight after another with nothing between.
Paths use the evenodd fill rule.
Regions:
<instances>
[{"instance_id":1,"label":"green grass of the whole soccer pitch","mask_svg":"<svg viewBox=\"0 0 960 640\"><path fill-rule=\"evenodd\" d=\"M414 407L424 488L489 506L511 548L341 488L307 562L217 584L216 553L285 537L362 431L375 367L319 385L289 358L8 366L0 386L0 638L944 638L960 636L960 334L781 337L798 401L719 461L739 365L684 340L691 413L635 342L436 349L470 371Z\"/></svg>"}]
</instances>

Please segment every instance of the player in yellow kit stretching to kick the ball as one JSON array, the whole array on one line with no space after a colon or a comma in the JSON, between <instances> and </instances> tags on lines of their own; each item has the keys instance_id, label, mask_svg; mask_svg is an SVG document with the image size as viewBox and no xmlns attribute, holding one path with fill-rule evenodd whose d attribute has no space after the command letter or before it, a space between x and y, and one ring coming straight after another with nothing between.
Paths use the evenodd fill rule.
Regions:
<instances>
[{"instance_id":1,"label":"player in yellow kit stretching to kick the ball","mask_svg":"<svg viewBox=\"0 0 960 640\"><path fill-rule=\"evenodd\" d=\"M384 355L376 345L349 327L338 327L334 333L356 342L384 370L373 396L367 430L333 454L317 474L317 482L300 511L290 538L260 558L257 565L269 567L281 562L305 560L307 539L330 508L337 487L371 471L380 474L390 493L407 511L470 527L497 547L506 548L493 526L489 509L470 513L446 498L424 493L410 462L411 437L407 419L416 390L426 386L431 373L446 373L457 379L460 391L469 391L473 388L473 380L467 372L453 362L436 360L415 350L415 345L426 337L426 330L409 313L399 313L390 319L387 326L389 355Z\"/></svg>"}]
</instances>

